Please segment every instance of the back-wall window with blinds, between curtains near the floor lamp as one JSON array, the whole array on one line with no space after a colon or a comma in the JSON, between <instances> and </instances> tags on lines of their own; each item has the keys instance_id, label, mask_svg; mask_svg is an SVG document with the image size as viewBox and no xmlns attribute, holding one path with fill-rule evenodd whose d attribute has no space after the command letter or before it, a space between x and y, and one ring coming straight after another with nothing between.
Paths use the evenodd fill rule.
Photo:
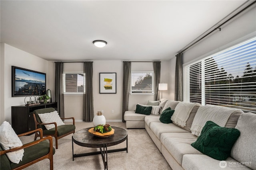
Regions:
<instances>
[{"instance_id":1,"label":"back-wall window with blinds, between curtains near the floor lamp","mask_svg":"<svg viewBox=\"0 0 256 170\"><path fill-rule=\"evenodd\" d=\"M154 94L153 71L131 72L131 94Z\"/></svg>"}]
</instances>

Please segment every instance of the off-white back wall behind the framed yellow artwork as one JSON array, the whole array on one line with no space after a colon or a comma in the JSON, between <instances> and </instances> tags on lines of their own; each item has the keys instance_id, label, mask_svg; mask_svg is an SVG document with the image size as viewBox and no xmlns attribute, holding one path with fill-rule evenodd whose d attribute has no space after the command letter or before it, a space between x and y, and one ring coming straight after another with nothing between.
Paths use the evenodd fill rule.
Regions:
<instances>
[{"instance_id":1,"label":"off-white back wall behind the framed yellow artwork","mask_svg":"<svg viewBox=\"0 0 256 170\"><path fill-rule=\"evenodd\" d=\"M168 61L161 63L161 82L168 83ZM142 66L143 64L143 66ZM153 70L152 63L132 63L133 71ZM164 72L167 70L166 72ZM64 71L83 71L83 63L64 63ZM116 72L116 94L100 94L99 73ZM107 121L122 121L122 81L123 62L122 61L93 61L93 97L94 115L97 111L104 111ZM168 91L163 92L163 98L168 98ZM75 117L76 121L82 121L82 96L64 96L65 117ZM133 95L129 98L129 109L136 109L136 104L146 104L148 100L154 100L154 96ZM114 113L112 113L114 110Z\"/></svg>"}]
</instances>

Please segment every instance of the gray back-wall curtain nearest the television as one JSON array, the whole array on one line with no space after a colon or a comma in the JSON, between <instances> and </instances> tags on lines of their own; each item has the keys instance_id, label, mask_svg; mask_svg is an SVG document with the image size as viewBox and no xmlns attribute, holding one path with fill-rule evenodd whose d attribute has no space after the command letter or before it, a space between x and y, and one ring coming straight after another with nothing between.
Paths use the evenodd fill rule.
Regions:
<instances>
[{"instance_id":1,"label":"gray back-wall curtain nearest the television","mask_svg":"<svg viewBox=\"0 0 256 170\"><path fill-rule=\"evenodd\" d=\"M58 113L64 118L63 62L55 63L55 98Z\"/></svg>"}]
</instances>

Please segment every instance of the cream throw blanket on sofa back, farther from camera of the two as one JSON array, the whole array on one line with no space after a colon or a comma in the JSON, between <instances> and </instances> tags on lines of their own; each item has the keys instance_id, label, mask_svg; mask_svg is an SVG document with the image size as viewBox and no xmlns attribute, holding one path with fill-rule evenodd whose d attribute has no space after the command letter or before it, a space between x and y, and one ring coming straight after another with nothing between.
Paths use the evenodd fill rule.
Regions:
<instances>
[{"instance_id":1,"label":"cream throw blanket on sofa back, farther from camera of the two","mask_svg":"<svg viewBox=\"0 0 256 170\"><path fill-rule=\"evenodd\" d=\"M186 126L186 121L194 108L194 106L200 105L197 103L180 102L176 107L171 117L171 120L182 127Z\"/></svg>"}]
</instances>

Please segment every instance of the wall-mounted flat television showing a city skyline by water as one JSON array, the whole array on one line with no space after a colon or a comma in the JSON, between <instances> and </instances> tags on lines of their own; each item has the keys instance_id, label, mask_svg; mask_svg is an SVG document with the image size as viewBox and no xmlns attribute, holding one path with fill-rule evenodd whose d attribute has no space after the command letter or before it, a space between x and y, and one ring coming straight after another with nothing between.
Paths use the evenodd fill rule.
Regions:
<instances>
[{"instance_id":1,"label":"wall-mounted flat television showing a city skyline by water","mask_svg":"<svg viewBox=\"0 0 256 170\"><path fill-rule=\"evenodd\" d=\"M12 66L12 97L46 94L46 73Z\"/></svg>"}]
</instances>

